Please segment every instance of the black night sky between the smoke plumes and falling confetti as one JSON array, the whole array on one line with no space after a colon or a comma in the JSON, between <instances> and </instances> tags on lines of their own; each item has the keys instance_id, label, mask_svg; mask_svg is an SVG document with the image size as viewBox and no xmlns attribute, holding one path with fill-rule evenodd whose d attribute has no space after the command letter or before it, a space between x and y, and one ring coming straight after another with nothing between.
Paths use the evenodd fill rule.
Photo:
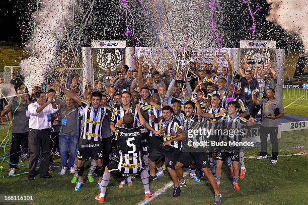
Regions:
<instances>
[{"instance_id":1,"label":"black night sky between the smoke plumes and falling confetti","mask_svg":"<svg viewBox=\"0 0 308 205\"><path fill-rule=\"evenodd\" d=\"M81 7L84 8L84 12L90 6L92 1L87 0L79 0ZM130 2L130 1L128 1ZM204 1L210 2L210 1ZM265 0L256 0L256 1L248 1L252 10L255 11L257 6L261 7L261 10L258 11L255 15L256 29L257 35L255 39L262 38L262 40L276 40L277 46L280 48L286 48L284 37L285 32L278 27L273 25L272 23L265 20L266 16L269 13L270 6L266 3ZM117 22L118 14L115 7L119 5L119 1L98 1L95 0L94 3L93 15L96 16L96 21L86 27L84 30L83 45L89 45L90 41L93 39L113 39L114 34L114 22ZM224 37L225 35L230 38L231 41L235 40L249 40L253 39L252 32L248 32L245 35L239 36L238 33L229 34L228 32L241 32L241 31L249 31L249 28L252 26L252 19L247 7L247 4L244 4L242 0L226 0L221 1L221 11L222 11L222 27ZM137 8L136 5L135 8ZM104 9L102 9L104 8ZM8 41L8 42L18 42L18 43L26 43L26 41L31 37L31 32L33 30L32 16L31 14L36 9L36 0L1 0L0 1L0 28L3 28L3 32L0 33L0 41ZM185 8L184 8L185 9ZM108 12L113 11L113 12ZM151 30L146 21L142 21L142 16L135 15L134 16L136 22L141 23L140 27L144 27L148 32L147 35L150 36ZM104 22L102 24L101 22ZM113 26L111 26L113 25ZM208 28L211 30L211 28ZM137 30L137 29L136 29ZM263 35L260 35L262 31ZM105 32L105 33L104 33ZM138 34L144 33L145 31L142 29L138 29ZM123 35L125 33L125 25L120 24L118 28L118 32L116 34L117 40L122 40L125 38ZM265 34L265 35L264 35ZM140 46L147 46L146 38L141 39ZM292 44L291 49L296 49L301 47L300 43ZM226 44L229 44L226 42ZM227 45L226 47L230 47L231 45ZM238 46L238 45L237 45Z\"/></svg>"}]
</instances>

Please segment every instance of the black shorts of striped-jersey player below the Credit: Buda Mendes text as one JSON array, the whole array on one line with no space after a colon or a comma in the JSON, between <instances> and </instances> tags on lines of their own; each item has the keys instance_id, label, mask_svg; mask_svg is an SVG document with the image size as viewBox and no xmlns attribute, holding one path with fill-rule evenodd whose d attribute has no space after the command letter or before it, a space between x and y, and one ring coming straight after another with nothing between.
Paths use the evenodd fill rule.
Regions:
<instances>
[{"instance_id":1,"label":"black shorts of striped-jersey player below the Credit: Buda Mendes text","mask_svg":"<svg viewBox=\"0 0 308 205\"><path fill-rule=\"evenodd\" d=\"M181 152L178 157L178 162L184 164L186 167L191 161L195 160L198 167L210 167L206 152Z\"/></svg>"}]
</instances>

